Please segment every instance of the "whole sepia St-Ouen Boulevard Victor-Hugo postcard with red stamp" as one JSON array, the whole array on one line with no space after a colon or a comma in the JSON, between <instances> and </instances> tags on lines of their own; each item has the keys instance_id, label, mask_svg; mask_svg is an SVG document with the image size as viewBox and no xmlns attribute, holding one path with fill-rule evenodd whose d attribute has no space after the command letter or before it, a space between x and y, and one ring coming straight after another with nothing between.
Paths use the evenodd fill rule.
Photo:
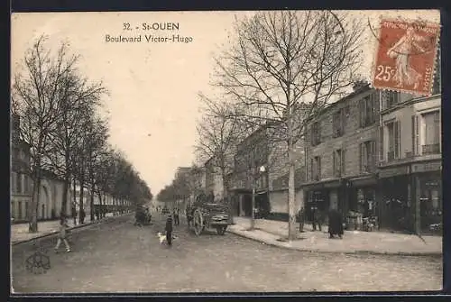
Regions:
<instances>
[{"instance_id":1,"label":"whole sepia St-Ouen Boulevard Victor-Hugo postcard with red stamp","mask_svg":"<svg viewBox=\"0 0 451 302\"><path fill-rule=\"evenodd\" d=\"M11 293L443 287L438 10L13 13Z\"/></svg>"}]
</instances>

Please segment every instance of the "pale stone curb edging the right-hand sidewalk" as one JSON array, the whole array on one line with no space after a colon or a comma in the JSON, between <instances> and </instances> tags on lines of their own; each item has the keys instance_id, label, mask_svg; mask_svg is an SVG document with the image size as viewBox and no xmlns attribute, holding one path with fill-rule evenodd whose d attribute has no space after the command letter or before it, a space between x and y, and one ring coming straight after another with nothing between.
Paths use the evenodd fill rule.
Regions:
<instances>
[{"instance_id":1,"label":"pale stone curb edging the right-hand sidewalk","mask_svg":"<svg viewBox=\"0 0 451 302\"><path fill-rule=\"evenodd\" d=\"M350 252L350 251L345 251L345 252L340 252L340 251L324 251L324 250L318 250L318 249L300 249L300 248L296 248L296 247L292 247L292 246L285 246L282 245L280 243L271 243L271 242L265 242L262 241L261 239L257 239L257 238L253 238L251 236L246 236L244 233L238 233L236 231L230 231L227 230L227 233L233 233L237 236L243 237L243 238L247 238L250 240L253 240L254 242L258 242L258 243L264 243L267 245L271 245L271 246L275 246L278 248L283 248L283 249L288 249L288 250L292 250L292 251L299 251L299 252L318 252L318 253L328 253L328 254L345 254L345 255L385 255L385 256L443 256L443 252L375 252L375 251L354 251L354 252Z\"/></svg>"}]
</instances>

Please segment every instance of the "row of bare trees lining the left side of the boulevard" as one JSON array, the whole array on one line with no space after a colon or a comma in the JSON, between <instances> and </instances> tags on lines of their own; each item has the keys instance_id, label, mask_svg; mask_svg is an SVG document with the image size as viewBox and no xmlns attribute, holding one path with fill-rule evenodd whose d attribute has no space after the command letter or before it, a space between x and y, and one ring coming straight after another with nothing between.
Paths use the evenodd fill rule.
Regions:
<instances>
[{"instance_id":1,"label":"row of bare trees lining the left side of the boulevard","mask_svg":"<svg viewBox=\"0 0 451 302\"><path fill-rule=\"evenodd\" d=\"M37 213L42 171L55 172L64 179L62 209L68 208L69 188L79 185L78 205L84 208L85 188L90 193L91 219L94 197L103 195L133 204L152 199L146 185L121 151L108 143L107 118L100 114L108 96L101 82L84 77L78 69L79 56L70 54L69 44L56 52L46 48L41 36L24 55L12 87L12 114L21 118L20 136L31 146L30 175L32 206L30 232L38 231ZM73 195L74 204L77 203Z\"/></svg>"}]
</instances>

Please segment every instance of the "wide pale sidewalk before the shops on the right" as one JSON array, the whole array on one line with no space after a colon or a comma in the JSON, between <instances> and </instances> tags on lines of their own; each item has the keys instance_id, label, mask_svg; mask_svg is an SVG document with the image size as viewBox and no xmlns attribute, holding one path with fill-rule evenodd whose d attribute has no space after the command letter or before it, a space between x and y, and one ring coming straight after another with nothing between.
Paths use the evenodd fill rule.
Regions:
<instances>
[{"instance_id":1,"label":"wide pale sidewalk before the shops on the right","mask_svg":"<svg viewBox=\"0 0 451 302\"><path fill-rule=\"evenodd\" d=\"M343 239L328 239L327 226L322 232L312 232L311 224L304 225L304 233L298 233L295 241L288 242L288 223L265 219L255 220L255 229L248 231L251 220L234 217L227 231L262 243L307 252L374 253L404 255L440 255L441 236L423 236L385 232L345 231ZM299 229L299 224L296 224Z\"/></svg>"}]
</instances>

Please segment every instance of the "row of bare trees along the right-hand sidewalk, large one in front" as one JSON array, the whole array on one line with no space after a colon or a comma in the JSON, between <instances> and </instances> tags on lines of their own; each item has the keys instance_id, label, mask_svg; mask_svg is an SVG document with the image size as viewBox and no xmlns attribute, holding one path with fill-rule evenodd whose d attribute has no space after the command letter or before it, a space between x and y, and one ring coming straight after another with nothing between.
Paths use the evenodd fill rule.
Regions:
<instances>
[{"instance_id":1,"label":"row of bare trees along the right-hand sidewalk, large one in front","mask_svg":"<svg viewBox=\"0 0 451 302\"><path fill-rule=\"evenodd\" d=\"M231 46L216 57L211 85L219 94L200 93L205 106L197 151L215 159L225 193L236 146L250 133L264 129L270 148L284 146L289 240L296 236L294 146L308 141L308 124L358 79L363 32L354 16L331 11L259 12L237 19Z\"/></svg>"}]
</instances>

